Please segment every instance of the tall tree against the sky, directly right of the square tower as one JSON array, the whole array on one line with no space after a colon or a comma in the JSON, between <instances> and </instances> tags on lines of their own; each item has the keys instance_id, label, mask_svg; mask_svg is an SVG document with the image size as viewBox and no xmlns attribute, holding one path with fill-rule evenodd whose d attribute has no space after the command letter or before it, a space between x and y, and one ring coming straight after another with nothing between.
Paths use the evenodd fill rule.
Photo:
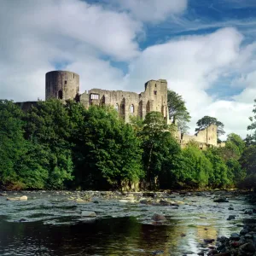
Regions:
<instances>
[{"instance_id":1,"label":"tall tree against the sky, directly right of the square tower","mask_svg":"<svg viewBox=\"0 0 256 256\"><path fill-rule=\"evenodd\" d=\"M167 104L169 110L169 119L173 124L178 123L179 131L187 131L189 127L186 125L191 117L185 106L183 97L173 90L167 91Z\"/></svg>"}]
</instances>

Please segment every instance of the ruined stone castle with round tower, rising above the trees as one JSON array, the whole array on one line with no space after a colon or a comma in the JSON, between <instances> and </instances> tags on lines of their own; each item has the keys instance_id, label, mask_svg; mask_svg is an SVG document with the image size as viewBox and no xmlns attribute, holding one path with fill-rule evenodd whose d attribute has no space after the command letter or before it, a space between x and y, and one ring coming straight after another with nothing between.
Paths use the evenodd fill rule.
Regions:
<instances>
[{"instance_id":1,"label":"ruined stone castle with round tower, rising above the trees","mask_svg":"<svg viewBox=\"0 0 256 256\"><path fill-rule=\"evenodd\" d=\"M167 81L165 79L149 80L145 90L140 94L122 90L91 89L79 93L79 74L69 71L51 71L45 75L45 99L57 98L61 101L74 99L81 102L85 108L90 105L111 105L118 111L120 118L129 122L131 116L142 119L151 111L163 114L167 124L170 124L167 107ZM37 102L18 102L24 110L31 108ZM195 141L201 149L220 146L217 143L217 126L210 125L194 136L181 134L177 131L178 142L184 147L190 141Z\"/></svg>"}]
</instances>

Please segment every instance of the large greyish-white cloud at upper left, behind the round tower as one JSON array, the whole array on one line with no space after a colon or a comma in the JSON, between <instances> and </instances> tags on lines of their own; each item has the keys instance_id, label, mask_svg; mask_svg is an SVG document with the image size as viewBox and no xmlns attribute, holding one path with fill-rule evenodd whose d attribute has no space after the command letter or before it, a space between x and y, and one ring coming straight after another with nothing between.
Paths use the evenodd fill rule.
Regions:
<instances>
[{"instance_id":1,"label":"large greyish-white cloud at upper left, behind the round tower","mask_svg":"<svg viewBox=\"0 0 256 256\"><path fill-rule=\"evenodd\" d=\"M3 0L0 98L44 99L44 74L56 66L74 67L73 72L84 73L87 86L96 80L96 85L104 84L103 73L109 73L109 78L116 75L118 79L120 72L109 67L102 56L117 61L136 57L139 54L136 38L141 32L142 23L129 15L84 1Z\"/></svg>"}]
</instances>

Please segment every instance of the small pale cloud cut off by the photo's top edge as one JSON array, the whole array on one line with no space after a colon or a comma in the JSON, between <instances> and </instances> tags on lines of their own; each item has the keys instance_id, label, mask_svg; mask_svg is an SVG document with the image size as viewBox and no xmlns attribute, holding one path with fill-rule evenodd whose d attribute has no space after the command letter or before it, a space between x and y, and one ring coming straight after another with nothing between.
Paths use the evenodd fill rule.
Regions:
<instances>
[{"instance_id":1,"label":"small pale cloud cut off by the photo's top edge","mask_svg":"<svg viewBox=\"0 0 256 256\"><path fill-rule=\"evenodd\" d=\"M187 0L112 0L120 9L128 10L137 20L158 22L187 9Z\"/></svg>"}]
</instances>

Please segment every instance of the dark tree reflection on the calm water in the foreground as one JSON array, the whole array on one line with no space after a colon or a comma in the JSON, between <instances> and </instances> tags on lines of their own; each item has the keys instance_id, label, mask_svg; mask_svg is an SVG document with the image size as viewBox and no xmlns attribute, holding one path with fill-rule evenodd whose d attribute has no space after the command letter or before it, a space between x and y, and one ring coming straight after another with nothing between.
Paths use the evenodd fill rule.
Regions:
<instances>
[{"instance_id":1,"label":"dark tree reflection on the calm water in the foreground","mask_svg":"<svg viewBox=\"0 0 256 256\"><path fill-rule=\"evenodd\" d=\"M0 224L1 255L149 255L156 250L166 254L182 239L175 226L139 224L133 217L75 225L3 220Z\"/></svg>"}]
</instances>

